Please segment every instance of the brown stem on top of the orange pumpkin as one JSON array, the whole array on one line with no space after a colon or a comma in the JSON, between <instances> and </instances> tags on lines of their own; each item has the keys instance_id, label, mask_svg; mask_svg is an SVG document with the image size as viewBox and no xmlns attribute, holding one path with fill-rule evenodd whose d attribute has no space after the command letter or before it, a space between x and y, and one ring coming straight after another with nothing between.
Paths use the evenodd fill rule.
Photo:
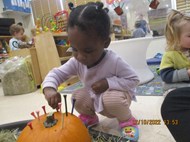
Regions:
<instances>
[{"instance_id":1,"label":"brown stem on top of the orange pumpkin","mask_svg":"<svg viewBox=\"0 0 190 142\"><path fill-rule=\"evenodd\" d=\"M57 124L57 119L54 118L54 112L48 113L46 117L46 121L44 122L44 126L46 128L53 127L54 125Z\"/></svg>"}]
</instances>

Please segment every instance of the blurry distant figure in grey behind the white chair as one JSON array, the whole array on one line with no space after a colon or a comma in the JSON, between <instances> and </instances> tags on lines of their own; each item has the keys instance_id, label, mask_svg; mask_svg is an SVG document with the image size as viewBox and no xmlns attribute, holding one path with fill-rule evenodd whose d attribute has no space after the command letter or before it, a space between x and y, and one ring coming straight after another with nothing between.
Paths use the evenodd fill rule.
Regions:
<instances>
[{"instance_id":1,"label":"blurry distant figure in grey behind the white chair","mask_svg":"<svg viewBox=\"0 0 190 142\"><path fill-rule=\"evenodd\" d=\"M140 21L135 22L135 30L133 31L133 38L145 37L146 33L141 28Z\"/></svg>"}]
</instances>

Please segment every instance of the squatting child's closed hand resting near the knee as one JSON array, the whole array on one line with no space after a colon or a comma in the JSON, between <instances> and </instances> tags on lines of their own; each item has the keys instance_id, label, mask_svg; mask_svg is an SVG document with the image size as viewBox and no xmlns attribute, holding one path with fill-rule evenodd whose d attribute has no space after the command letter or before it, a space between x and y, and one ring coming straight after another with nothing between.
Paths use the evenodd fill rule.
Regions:
<instances>
[{"instance_id":1,"label":"squatting child's closed hand resting near the knee","mask_svg":"<svg viewBox=\"0 0 190 142\"><path fill-rule=\"evenodd\" d=\"M100 81L95 82L94 84L92 84L91 87L95 94L101 94L109 88L106 79L102 79Z\"/></svg>"}]
</instances>

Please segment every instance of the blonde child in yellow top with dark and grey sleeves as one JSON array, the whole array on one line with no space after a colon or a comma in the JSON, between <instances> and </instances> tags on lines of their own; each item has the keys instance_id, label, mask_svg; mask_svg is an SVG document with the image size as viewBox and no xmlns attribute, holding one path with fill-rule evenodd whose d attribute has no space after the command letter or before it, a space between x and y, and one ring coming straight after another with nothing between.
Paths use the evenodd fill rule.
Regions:
<instances>
[{"instance_id":1,"label":"blonde child in yellow top with dark and grey sleeves","mask_svg":"<svg viewBox=\"0 0 190 142\"><path fill-rule=\"evenodd\" d=\"M165 28L167 49L160 65L165 83L190 82L190 17L172 10Z\"/></svg>"}]
</instances>

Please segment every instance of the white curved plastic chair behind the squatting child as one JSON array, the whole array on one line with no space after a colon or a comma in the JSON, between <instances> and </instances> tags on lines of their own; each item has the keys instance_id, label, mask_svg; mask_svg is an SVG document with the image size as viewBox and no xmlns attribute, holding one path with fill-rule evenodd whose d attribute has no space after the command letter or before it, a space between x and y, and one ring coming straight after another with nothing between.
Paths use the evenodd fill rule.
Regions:
<instances>
[{"instance_id":1,"label":"white curved plastic chair behind the squatting child","mask_svg":"<svg viewBox=\"0 0 190 142\"><path fill-rule=\"evenodd\" d=\"M152 39L152 37L143 37L112 41L108 47L134 68L140 79L139 85L154 78L146 62L146 51Z\"/></svg>"}]
</instances>

